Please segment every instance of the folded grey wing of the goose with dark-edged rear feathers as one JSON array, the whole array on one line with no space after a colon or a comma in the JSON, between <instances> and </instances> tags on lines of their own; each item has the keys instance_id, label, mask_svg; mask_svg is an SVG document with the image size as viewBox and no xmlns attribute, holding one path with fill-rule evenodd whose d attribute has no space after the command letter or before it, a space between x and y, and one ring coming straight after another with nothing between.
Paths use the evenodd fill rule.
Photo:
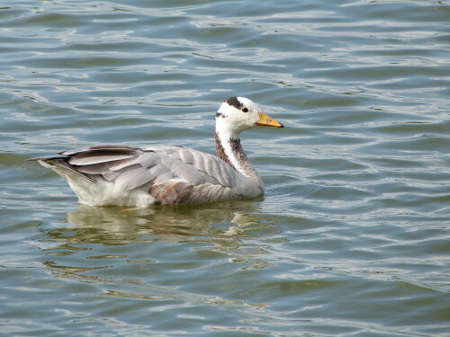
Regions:
<instances>
[{"instance_id":1,"label":"folded grey wing of the goose with dark-edged rear feathers","mask_svg":"<svg viewBox=\"0 0 450 337\"><path fill-rule=\"evenodd\" d=\"M125 191L171 180L194 186L236 187L238 180L243 179L219 157L184 146L92 146L60 154L66 156L64 161L76 172L87 177L103 176Z\"/></svg>"}]
</instances>

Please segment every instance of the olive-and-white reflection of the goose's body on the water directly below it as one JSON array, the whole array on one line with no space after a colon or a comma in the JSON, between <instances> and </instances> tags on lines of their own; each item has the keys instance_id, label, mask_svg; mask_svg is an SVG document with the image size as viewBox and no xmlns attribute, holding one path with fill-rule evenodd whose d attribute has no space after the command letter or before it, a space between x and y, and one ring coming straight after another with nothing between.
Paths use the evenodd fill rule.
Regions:
<instances>
[{"instance_id":1,"label":"olive-and-white reflection of the goose's body on the water directly below it","mask_svg":"<svg viewBox=\"0 0 450 337\"><path fill-rule=\"evenodd\" d=\"M239 236L275 234L274 219L261 215L257 200L227 201L183 207L93 208L79 206L67 213L75 227L47 234L65 244L131 244L141 241L207 241L238 244ZM67 231L72 231L68 235ZM66 233L63 233L66 232Z\"/></svg>"}]
</instances>

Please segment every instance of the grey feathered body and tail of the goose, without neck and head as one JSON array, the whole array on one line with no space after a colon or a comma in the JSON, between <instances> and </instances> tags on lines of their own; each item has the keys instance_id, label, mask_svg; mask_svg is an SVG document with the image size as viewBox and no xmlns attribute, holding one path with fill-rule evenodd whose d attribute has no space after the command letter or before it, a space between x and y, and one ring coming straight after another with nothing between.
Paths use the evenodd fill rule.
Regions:
<instances>
[{"instance_id":1,"label":"grey feathered body and tail of the goose, without neck and head","mask_svg":"<svg viewBox=\"0 0 450 337\"><path fill-rule=\"evenodd\" d=\"M92 146L35 158L81 203L144 207L254 197L264 190L215 155L184 146Z\"/></svg>"}]
</instances>

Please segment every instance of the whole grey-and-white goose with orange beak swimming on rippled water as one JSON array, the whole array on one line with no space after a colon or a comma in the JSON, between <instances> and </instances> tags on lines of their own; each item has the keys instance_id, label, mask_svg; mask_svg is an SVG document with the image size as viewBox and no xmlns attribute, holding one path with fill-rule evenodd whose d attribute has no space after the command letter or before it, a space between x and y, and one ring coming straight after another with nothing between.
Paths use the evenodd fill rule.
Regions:
<instances>
[{"instance_id":1,"label":"whole grey-and-white goose with orange beak swimming on rippled water","mask_svg":"<svg viewBox=\"0 0 450 337\"><path fill-rule=\"evenodd\" d=\"M244 97L230 97L215 115L216 155L185 146L100 145L31 158L64 178L88 206L148 207L252 198L264 183L239 134L283 124Z\"/></svg>"}]
</instances>

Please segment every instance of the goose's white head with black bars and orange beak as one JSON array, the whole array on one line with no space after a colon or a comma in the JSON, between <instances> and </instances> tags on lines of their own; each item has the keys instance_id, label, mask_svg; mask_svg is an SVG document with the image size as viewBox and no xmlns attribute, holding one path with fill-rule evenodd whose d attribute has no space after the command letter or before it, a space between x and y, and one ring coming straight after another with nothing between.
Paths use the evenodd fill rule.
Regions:
<instances>
[{"instance_id":1,"label":"goose's white head with black bars and orange beak","mask_svg":"<svg viewBox=\"0 0 450 337\"><path fill-rule=\"evenodd\" d=\"M283 128L283 124L261 112L256 103L245 97L230 97L216 113L216 132L237 138L239 133L256 126Z\"/></svg>"}]
</instances>

